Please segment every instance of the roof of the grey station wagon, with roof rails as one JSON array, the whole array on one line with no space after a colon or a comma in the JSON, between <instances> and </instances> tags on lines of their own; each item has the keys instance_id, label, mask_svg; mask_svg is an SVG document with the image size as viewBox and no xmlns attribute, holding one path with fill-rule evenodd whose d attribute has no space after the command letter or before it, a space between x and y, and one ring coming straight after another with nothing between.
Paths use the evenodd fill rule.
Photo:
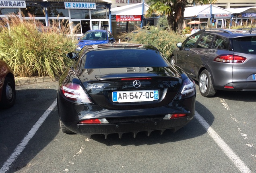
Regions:
<instances>
[{"instance_id":1,"label":"roof of the grey station wagon, with roof rails","mask_svg":"<svg viewBox=\"0 0 256 173\"><path fill-rule=\"evenodd\" d=\"M239 29L221 29L221 28L207 28L198 32L214 33L227 38L236 38L244 36L256 36L256 28L239 28Z\"/></svg>"}]
</instances>

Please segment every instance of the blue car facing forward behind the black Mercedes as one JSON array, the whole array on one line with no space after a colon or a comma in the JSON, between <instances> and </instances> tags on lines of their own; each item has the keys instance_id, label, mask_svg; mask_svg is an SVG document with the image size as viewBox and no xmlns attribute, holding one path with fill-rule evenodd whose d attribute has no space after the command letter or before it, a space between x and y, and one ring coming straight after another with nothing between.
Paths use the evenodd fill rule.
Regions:
<instances>
[{"instance_id":1,"label":"blue car facing forward behind the black Mercedes","mask_svg":"<svg viewBox=\"0 0 256 173\"><path fill-rule=\"evenodd\" d=\"M78 38L76 50L81 50L85 45L115 43L114 36L108 30L89 30Z\"/></svg>"}]
</instances>

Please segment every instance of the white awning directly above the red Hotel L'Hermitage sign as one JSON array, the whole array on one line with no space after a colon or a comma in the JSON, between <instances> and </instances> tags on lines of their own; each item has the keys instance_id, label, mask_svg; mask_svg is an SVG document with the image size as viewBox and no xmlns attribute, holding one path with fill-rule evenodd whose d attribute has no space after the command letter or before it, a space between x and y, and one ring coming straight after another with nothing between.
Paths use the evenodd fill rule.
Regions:
<instances>
[{"instance_id":1,"label":"white awning directly above the red Hotel L'Hermitage sign","mask_svg":"<svg viewBox=\"0 0 256 173\"><path fill-rule=\"evenodd\" d=\"M111 8L111 14L112 15L142 15L142 4L143 3ZM148 9L149 9L149 6L144 3L143 14L145 14Z\"/></svg>"}]
</instances>

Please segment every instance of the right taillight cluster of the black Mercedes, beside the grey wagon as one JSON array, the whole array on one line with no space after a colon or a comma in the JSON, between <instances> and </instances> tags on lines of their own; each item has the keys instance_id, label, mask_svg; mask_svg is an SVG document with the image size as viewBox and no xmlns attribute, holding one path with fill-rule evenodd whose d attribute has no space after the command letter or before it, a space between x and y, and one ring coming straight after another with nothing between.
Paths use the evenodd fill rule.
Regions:
<instances>
[{"instance_id":1,"label":"right taillight cluster of the black Mercedes, beside the grey wagon","mask_svg":"<svg viewBox=\"0 0 256 173\"><path fill-rule=\"evenodd\" d=\"M187 78L183 82L182 90L180 94L175 99L176 100L186 99L194 96L195 94L196 94L196 84L194 83L194 80L190 80L189 78Z\"/></svg>"}]
</instances>

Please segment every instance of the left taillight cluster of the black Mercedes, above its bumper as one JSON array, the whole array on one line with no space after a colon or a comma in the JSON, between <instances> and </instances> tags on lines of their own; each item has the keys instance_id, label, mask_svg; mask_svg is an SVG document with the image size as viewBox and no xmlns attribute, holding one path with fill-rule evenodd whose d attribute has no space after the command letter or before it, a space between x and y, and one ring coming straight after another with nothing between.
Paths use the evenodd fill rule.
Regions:
<instances>
[{"instance_id":1,"label":"left taillight cluster of the black Mercedes, above its bumper","mask_svg":"<svg viewBox=\"0 0 256 173\"><path fill-rule=\"evenodd\" d=\"M62 84L62 95L68 101L78 104L93 104L81 85L75 83Z\"/></svg>"}]
</instances>

